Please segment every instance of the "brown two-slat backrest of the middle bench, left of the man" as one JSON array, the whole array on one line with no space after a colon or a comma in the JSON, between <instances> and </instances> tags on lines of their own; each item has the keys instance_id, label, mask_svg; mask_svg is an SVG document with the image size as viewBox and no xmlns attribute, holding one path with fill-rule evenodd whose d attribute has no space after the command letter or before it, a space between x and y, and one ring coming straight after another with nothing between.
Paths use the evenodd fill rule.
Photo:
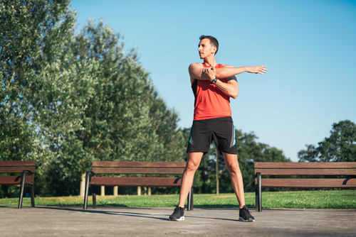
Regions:
<instances>
[{"instance_id":1,"label":"brown two-slat backrest of the middle bench, left of the man","mask_svg":"<svg viewBox=\"0 0 356 237\"><path fill-rule=\"evenodd\" d=\"M186 162L94 161L95 174L182 175Z\"/></svg>"}]
</instances>

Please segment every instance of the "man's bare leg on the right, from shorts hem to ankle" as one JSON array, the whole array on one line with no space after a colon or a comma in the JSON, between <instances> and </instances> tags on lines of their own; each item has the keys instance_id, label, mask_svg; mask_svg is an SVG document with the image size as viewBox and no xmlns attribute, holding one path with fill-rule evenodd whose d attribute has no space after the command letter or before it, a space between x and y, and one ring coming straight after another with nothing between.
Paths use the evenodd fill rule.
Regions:
<instances>
[{"instance_id":1,"label":"man's bare leg on the right, from shorts hem to ankle","mask_svg":"<svg viewBox=\"0 0 356 237\"><path fill-rule=\"evenodd\" d=\"M242 180L241 170L236 154L223 153L225 165L229 170L231 184L239 202L240 209L245 205L244 181Z\"/></svg>"}]
</instances>

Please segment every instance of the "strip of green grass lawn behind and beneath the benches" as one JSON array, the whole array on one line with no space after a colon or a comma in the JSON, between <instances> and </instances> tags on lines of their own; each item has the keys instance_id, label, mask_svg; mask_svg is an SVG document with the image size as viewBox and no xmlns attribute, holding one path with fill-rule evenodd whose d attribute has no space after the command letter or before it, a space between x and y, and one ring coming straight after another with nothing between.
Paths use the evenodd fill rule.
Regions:
<instances>
[{"instance_id":1,"label":"strip of green grass lawn behind and beneath the benches","mask_svg":"<svg viewBox=\"0 0 356 237\"><path fill-rule=\"evenodd\" d=\"M262 192L263 209L356 209L356 190ZM97 206L174 207L179 195L97 196ZM246 206L255 206L255 193L245 194ZM0 206L17 206L19 199L0 199ZM83 206L83 197L36 197L36 206ZM92 197L88 206L92 206ZM23 198L23 206L31 206ZM194 194L194 207L238 208L235 194Z\"/></svg>"}]
</instances>

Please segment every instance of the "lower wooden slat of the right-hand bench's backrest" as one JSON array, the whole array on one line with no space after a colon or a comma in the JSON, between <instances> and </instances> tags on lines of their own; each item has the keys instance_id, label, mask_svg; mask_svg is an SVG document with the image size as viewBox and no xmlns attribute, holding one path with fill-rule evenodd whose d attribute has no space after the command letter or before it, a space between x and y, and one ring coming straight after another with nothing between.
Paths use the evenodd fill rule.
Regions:
<instances>
[{"instance_id":1,"label":"lower wooden slat of the right-hand bench's backrest","mask_svg":"<svg viewBox=\"0 0 356 237\"><path fill-rule=\"evenodd\" d=\"M355 175L355 169L261 169L255 168L256 172L261 172L261 175Z\"/></svg>"}]
</instances>

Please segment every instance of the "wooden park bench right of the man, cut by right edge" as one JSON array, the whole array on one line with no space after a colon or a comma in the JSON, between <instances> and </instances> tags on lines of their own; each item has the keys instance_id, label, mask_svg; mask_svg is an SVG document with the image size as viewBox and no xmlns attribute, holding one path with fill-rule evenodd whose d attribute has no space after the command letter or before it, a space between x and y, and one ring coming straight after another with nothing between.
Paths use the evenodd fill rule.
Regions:
<instances>
[{"instance_id":1,"label":"wooden park bench right of the man, cut by right edge","mask_svg":"<svg viewBox=\"0 0 356 237\"><path fill-rule=\"evenodd\" d=\"M350 175L350 178L264 178L262 175ZM256 211L262 187L355 188L356 162L255 162Z\"/></svg>"}]
</instances>

